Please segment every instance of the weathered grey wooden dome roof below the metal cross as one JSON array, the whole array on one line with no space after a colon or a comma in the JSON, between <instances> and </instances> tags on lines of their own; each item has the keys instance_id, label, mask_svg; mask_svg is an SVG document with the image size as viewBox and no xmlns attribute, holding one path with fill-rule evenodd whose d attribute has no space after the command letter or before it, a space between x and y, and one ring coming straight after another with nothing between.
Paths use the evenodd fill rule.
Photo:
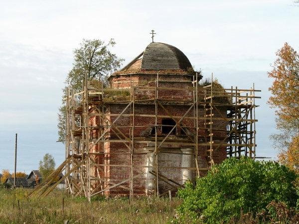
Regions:
<instances>
[{"instance_id":1,"label":"weathered grey wooden dome roof below the metal cross","mask_svg":"<svg viewBox=\"0 0 299 224\"><path fill-rule=\"evenodd\" d=\"M165 43L150 43L144 52L114 74L147 73L154 71L186 73L192 65L178 48Z\"/></svg>"}]
</instances>

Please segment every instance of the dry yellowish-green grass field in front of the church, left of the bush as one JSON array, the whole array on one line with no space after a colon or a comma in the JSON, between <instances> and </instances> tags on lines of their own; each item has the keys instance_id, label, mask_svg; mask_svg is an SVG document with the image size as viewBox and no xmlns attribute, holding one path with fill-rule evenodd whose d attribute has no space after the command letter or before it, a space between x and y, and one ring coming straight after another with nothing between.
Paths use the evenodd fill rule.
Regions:
<instances>
[{"instance_id":1,"label":"dry yellowish-green grass field in front of the church, left of the bush","mask_svg":"<svg viewBox=\"0 0 299 224\"><path fill-rule=\"evenodd\" d=\"M46 223L167 223L180 203L173 198L72 198L63 191L47 197L28 199L28 190L0 190L0 224ZM62 206L64 201L64 208ZM19 202L19 205L18 203Z\"/></svg>"}]
</instances>

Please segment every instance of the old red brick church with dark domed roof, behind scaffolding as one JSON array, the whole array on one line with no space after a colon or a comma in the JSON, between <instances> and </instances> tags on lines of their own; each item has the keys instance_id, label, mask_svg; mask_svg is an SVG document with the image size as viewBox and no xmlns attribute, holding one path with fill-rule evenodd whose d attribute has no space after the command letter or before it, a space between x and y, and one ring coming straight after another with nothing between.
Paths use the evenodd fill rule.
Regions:
<instances>
[{"instance_id":1,"label":"old red brick church with dark domed roof, behind scaffolding","mask_svg":"<svg viewBox=\"0 0 299 224\"><path fill-rule=\"evenodd\" d=\"M202 77L193 71L182 51L156 42L150 43L132 62L109 77L111 88L124 93L128 91L130 99L125 96L129 103L116 100L106 102L105 108L100 108L107 114L108 124L100 117L90 118L92 126L113 123L114 127L91 150L95 152L93 158L98 167L101 167L92 172L95 178L105 180L103 189L109 188L108 182L111 186L128 178L131 180L111 188L105 192L106 195L128 194L130 189L141 195L150 195L154 191L159 194L168 190L175 192L173 186L177 187L186 180L193 182L196 175L205 175L211 163L209 147L205 144L209 133L204 118L208 114L200 103L204 102L203 97L200 94L195 96L190 90L194 89L196 78L199 81ZM197 98L196 114L194 101ZM225 108L221 112L226 116ZM213 126L213 141L223 140L226 122L219 119L213 122ZM100 129L95 129L94 138L101 133ZM120 137L125 140L119 140ZM197 149L194 142L198 144ZM224 159L225 147L213 152L213 163ZM94 182L93 188L98 184Z\"/></svg>"}]
</instances>

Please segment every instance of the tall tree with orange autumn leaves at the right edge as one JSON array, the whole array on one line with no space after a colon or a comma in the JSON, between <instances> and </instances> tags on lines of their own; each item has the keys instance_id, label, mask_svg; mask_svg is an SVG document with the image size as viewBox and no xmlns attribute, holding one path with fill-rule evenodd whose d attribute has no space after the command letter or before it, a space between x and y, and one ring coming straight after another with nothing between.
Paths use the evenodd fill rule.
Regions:
<instances>
[{"instance_id":1,"label":"tall tree with orange autumn leaves at the right edge","mask_svg":"<svg viewBox=\"0 0 299 224\"><path fill-rule=\"evenodd\" d=\"M272 135L280 149L279 161L299 172L299 54L288 44L278 50L273 70L272 93L268 103L276 109L279 134Z\"/></svg>"}]
</instances>

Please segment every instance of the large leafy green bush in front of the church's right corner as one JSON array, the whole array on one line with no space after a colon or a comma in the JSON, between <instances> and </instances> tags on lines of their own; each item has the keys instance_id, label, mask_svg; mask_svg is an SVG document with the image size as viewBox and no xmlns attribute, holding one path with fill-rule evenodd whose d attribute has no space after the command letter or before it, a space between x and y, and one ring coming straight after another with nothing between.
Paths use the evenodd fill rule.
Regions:
<instances>
[{"instance_id":1,"label":"large leafy green bush in front of the church's right corner","mask_svg":"<svg viewBox=\"0 0 299 224\"><path fill-rule=\"evenodd\" d=\"M198 178L195 187L186 183L178 191L183 199L177 208L178 221L227 223L238 220L241 213L255 216L272 201L296 207L296 178L295 172L276 162L226 159Z\"/></svg>"}]
</instances>

